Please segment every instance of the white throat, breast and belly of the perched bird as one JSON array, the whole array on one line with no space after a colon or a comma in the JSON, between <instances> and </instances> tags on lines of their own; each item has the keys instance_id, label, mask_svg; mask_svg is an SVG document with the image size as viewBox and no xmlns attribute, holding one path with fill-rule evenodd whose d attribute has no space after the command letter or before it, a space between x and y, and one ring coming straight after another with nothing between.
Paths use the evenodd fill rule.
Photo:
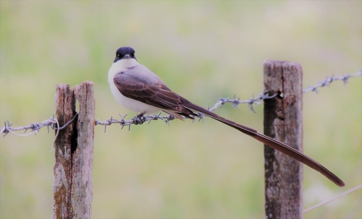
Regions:
<instances>
[{"instance_id":1,"label":"white throat, breast and belly of the perched bird","mask_svg":"<svg viewBox=\"0 0 362 219\"><path fill-rule=\"evenodd\" d=\"M111 88L111 92L115 98L115 100L123 107L136 112L136 113L156 113L161 111L160 108L153 107L146 103L142 103L138 100L134 100L128 97L125 97L118 91L118 88L115 86L113 82L113 78L116 74L126 71L130 67L134 67L135 65L139 65L135 59L121 59L118 62L114 62L108 71L108 83Z\"/></svg>"}]
</instances>

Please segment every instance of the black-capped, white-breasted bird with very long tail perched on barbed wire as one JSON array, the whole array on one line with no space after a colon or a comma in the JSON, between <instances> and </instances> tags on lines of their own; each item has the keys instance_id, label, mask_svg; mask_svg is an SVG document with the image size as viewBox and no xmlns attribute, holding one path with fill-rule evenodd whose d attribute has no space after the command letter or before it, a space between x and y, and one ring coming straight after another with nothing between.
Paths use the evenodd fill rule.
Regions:
<instances>
[{"instance_id":1,"label":"black-capped, white-breasted bird with very long tail perched on barbed wire","mask_svg":"<svg viewBox=\"0 0 362 219\"><path fill-rule=\"evenodd\" d=\"M343 187L345 183L327 168L305 154L274 140L256 130L225 119L218 114L206 110L171 91L171 89L146 66L138 63L135 50L131 47L120 47L112 66L108 71L108 82L115 100L123 107L144 114L166 112L178 119L194 119L202 113L254 139L278 150L303 164L317 170L336 185Z\"/></svg>"}]
</instances>

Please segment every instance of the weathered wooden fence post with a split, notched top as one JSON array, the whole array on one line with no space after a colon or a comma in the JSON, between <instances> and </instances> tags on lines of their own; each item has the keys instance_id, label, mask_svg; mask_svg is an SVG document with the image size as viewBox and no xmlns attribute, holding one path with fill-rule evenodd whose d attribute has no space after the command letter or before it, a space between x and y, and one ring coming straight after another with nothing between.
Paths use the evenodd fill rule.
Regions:
<instances>
[{"instance_id":1,"label":"weathered wooden fence post with a split, notched top","mask_svg":"<svg viewBox=\"0 0 362 219\"><path fill-rule=\"evenodd\" d=\"M74 93L76 92L76 93ZM69 84L56 86L56 119L62 127L75 115L73 123L59 131L55 140L52 218L90 218L95 103L93 83L83 82L75 89Z\"/></svg>"}]
</instances>

